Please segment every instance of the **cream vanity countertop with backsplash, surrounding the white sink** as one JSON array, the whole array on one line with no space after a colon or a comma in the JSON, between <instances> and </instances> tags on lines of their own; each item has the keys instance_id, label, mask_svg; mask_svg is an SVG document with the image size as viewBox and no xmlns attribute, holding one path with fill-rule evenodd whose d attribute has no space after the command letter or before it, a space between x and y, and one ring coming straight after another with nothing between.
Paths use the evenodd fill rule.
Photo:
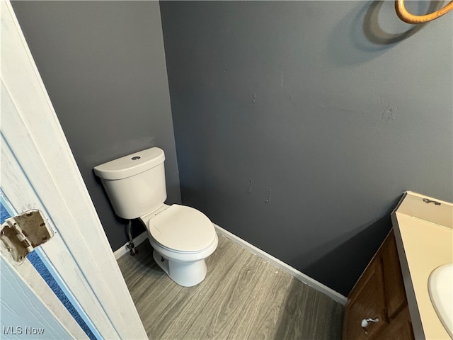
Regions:
<instances>
[{"instance_id":1,"label":"cream vanity countertop with backsplash, surrounding the white sink","mask_svg":"<svg viewBox=\"0 0 453 340\"><path fill-rule=\"evenodd\" d=\"M391 218L415 339L451 339L432 306L428 278L453 262L453 205L408 191Z\"/></svg>"}]
</instances>

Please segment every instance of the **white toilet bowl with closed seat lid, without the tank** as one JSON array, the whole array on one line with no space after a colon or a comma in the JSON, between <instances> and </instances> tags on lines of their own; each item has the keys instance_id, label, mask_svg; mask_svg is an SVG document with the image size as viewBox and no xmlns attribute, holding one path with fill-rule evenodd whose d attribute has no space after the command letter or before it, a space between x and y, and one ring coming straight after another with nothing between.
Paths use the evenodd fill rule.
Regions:
<instances>
[{"instance_id":1,"label":"white toilet bowl with closed seat lid, without the tank","mask_svg":"<svg viewBox=\"0 0 453 340\"><path fill-rule=\"evenodd\" d=\"M205 259L217 248L212 222L202 212L183 205L164 205L140 217L147 227L157 265L173 281L192 287L205 279Z\"/></svg>"}]
</instances>

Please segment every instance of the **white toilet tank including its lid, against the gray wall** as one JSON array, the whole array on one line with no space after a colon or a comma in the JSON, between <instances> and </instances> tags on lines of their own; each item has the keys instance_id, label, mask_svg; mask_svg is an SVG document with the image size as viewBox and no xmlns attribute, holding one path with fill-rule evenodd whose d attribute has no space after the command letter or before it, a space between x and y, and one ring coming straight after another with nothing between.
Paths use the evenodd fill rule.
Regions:
<instances>
[{"instance_id":1,"label":"white toilet tank including its lid, against the gray wall","mask_svg":"<svg viewBox=\"0 0 453 340\"><path fill-rule=\"evenodd\" d=\"M164 203L164 161L164 150L152 147L95 166L116 215L130 220Z\"/></svg>"}]
</instances>

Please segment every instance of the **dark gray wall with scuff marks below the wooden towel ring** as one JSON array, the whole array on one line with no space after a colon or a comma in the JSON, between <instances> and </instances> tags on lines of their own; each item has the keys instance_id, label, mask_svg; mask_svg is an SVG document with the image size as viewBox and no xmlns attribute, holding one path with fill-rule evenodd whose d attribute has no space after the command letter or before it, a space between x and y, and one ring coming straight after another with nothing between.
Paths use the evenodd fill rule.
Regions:
<instances>
[{"instance_id":1,"label":"dark gray wall with scuff marks below the wooden towel ring","mask_svg":"<svg viewBox=\"0 0 453 340\"><path fill-rule=\"evenodd\" d=\"M439 3L408 4L415 13ZM348 295L403 191L452 200L451 13L163 1L183 203Z\"/></svg>"}]
</instances>

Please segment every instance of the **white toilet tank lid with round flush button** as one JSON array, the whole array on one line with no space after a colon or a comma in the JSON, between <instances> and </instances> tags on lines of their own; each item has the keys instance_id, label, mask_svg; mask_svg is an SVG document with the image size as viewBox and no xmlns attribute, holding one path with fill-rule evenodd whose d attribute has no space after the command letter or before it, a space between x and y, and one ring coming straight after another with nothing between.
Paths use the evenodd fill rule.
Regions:
<instances>
[{"instance_id":1,"label":"white toilet tank lid with round flush button","mask_svg":"<svg viewBox=\"0 0 453 340\"><path fill-rule=\"evenodd\" d=\"M151 149L128 154L125 157L95 166L94 173L101 179L126 179L152 169L163 163L164 160L164 150L159 147L151 147Z\"/></svg>"}]
</instances>

